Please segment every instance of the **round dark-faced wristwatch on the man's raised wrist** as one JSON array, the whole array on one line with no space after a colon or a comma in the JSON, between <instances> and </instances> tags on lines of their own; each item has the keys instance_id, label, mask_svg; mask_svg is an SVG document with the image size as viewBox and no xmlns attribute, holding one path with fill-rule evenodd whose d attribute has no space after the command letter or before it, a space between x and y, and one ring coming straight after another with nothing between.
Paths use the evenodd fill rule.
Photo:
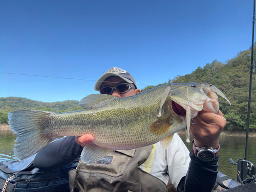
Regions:
<instances>
[{"instance_id":1,"label":"round dark-faced wristwatch on the man's raised wrist","mask_svg":"<svg viewBox=\"0 0 256 192\"><path fill-rule=\"evenodd\" d=\"M195 156L198 157L201 161L212 161L219 154L220 144L217 150L214 150L212 147L197 147L196 144L194 143L194 139L192 140L192 143Z\"/></svg>"}]
</instances>

